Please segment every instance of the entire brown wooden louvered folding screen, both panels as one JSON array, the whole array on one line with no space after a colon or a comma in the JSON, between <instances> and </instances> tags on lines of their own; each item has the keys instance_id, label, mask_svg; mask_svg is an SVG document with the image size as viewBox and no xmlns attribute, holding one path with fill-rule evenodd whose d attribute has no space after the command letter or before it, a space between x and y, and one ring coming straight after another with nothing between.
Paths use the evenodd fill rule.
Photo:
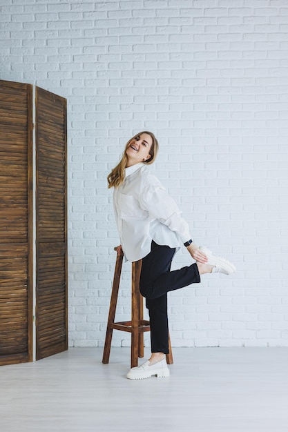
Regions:
<instances>
[{"instance_id":1,"label":"entire brown wooden louvered folding screen, both panels","mask_svg":"<svg viewBox=\"0 0 288 432\"><path fill-rule=\"evenodd\" d=\"M68 347L66 99L32 90L0 81L0 365Z\"/></svg>"}]
</instances>

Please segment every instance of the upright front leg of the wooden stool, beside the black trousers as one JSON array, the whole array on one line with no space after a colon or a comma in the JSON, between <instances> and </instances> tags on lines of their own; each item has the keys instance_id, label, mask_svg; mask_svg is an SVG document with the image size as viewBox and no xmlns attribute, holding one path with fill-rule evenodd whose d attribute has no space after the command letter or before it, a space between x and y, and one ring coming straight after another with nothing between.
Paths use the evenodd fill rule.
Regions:
<instances>
[{"instance_id":1,"label":"upright front leg of the wooden stool, beside the black trousers","mask_svg":"<svg viewBox=\"0 0 288 432\"><path fill-rule=\"evenodd\" d=\"M141 262L132 263L132 295L131 295L131 368L138 366L139 352L139 280L141 271Z\"/></svg>"}]
</instances>

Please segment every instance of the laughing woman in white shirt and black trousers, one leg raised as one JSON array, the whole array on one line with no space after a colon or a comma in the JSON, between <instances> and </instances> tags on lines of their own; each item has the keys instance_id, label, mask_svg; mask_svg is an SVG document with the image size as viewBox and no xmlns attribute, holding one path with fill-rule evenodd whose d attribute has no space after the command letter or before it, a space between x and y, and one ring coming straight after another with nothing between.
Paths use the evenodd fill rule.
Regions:
<instances>
[{"instance_id":1,"label":"laughing woman in white shirt and black trousers, one leg raised","mask_svg":"<svg viewBox=\"0 0 288 432\"><path fill-rule=\"evenodd\" d=\"M131 380L169 376L167 293L199 283L204 273L230 275L236 271L226 259L193 243L177 204L146 168L155 161L157 150L153 133L140 132L128 141L121 161L108 175L108 187L114 188L119 247L126 260L142 259L140 292L146 297L150 317L152 354L142 366L128 372ZM183 244L196 262L170 271L173 256Z\"/></svg>"}]
</instances>

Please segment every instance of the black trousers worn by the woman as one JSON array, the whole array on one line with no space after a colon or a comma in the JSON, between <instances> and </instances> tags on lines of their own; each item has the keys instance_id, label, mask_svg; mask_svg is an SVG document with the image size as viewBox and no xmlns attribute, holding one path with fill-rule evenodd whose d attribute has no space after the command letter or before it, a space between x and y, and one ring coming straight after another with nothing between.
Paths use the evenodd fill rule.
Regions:
<instances>
[{"instance_id":1,"label":"black trousers worn by the woman","mask_svg":"<svg viewBox=\"0 0 288 432\"><path fill-rule=\"evenodd\" d=\"M151 252L142 259L140 292L150 317L152 353L169 353L167 293L200 282L197 264L171 271L175 248L152 241Z\"/></svg>"}]
</instances>

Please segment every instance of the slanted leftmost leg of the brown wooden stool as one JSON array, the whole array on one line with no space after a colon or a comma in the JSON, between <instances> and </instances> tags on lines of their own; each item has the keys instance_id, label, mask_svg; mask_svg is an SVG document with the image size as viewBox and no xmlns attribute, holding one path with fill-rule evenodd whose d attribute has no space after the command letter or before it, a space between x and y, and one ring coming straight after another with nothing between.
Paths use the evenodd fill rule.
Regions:
<instances>
[{"instance_id":1,"label":"slanted leftmost leg of the brown wooden stool","mask_svg":"<svg viewBox=\"0 0 288 432\"><path fill-rule=\"evenodd\" d=\"M106 338L105 338L105 345L104 345L104 352L103 352L103 359L102 359L102 363L104 364L107 364L109 362L109 357L110 357L112 333L113 333L113 328L111 328L111 324L113 324L115 320L122 262L123 262L123 254L122 255L117 254L108 322L107 322Z\"/></svg>"}]
</instances>

